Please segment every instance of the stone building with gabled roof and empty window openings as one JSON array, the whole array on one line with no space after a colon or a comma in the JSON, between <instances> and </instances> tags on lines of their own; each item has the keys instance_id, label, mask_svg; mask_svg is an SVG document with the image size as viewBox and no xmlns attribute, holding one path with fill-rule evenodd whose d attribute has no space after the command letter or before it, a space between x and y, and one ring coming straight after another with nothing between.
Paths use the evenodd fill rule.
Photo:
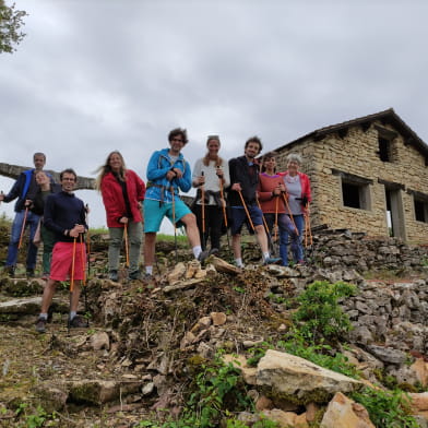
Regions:
<instances>
[{"instance_id":1,"label":"stone building with gabled roof and empty window openings","mask_svg":"<svg viewBox=\"0 0 428 428\"><path fill-rule=\"evenodd\" d=\"M428 243L428 145L391 108L318 129L276 150L299 153L311 225Z\"/></svg>"}]
</instances>

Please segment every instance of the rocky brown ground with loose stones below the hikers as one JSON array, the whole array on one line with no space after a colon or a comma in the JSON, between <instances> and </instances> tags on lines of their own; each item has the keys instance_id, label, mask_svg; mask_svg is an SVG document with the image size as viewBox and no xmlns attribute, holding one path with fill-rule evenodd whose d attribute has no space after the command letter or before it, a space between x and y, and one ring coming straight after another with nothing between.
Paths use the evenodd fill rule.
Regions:
<instances>
[{"instance_id":1,"label":"rocky brown ground with loose stones below the hikers","mask_svg":"<svg viewBox=\"0 0 428 428\"><path fill-rule=\"evenodd\" d=\"M216 258L201 269L188 260L187 250L179 250L182 263L176 264L174 245L165 243L158 247L155 281L112 283L105 277L103 246L94 240L91 280L86 298L82 298L81 312L91 317L86 330L67 329L67 284L56 295L48 332L40 335L34 321L43 281L0 280L0 426L138 427L151 426L148 420L163 420L166 415L174 418L188 397L195 366L213 359L218 350L234 354L233 359L238 355L248 358L250 349L263 342L282 340L292 325L295 297L316 280L345 281L360 289L359 296L347 299L343 307L355 324L348 357L365 372L364 379L355 382L323 373L323 399L317 402L312 376L322 370L304 364L306 391L307 387L295 387L298 376L289 374L287 366L287 377L275 387L277 379L283 379L283 355L269 352L257 368L241 360L255 408L283 424L280 426L316 427L314 414L325 412L333 395L344 405L345 399L337 394L364 382L378 382L377 369L382 369L401 377L402 383L417 385L412 391L425 401L414 413L419 415L417 426L427 426L426 270L395 278L395 284L391 277L374 281L372 273L366 281L354 269L338 265L268 268L254 263L259 255L250 246L243 272ZM123 278L124 270L121 273ZM292 357L287 358L290 364ZM271 365L275 365L274 377L269 374ZM413 369L407 369L411 366ZM282 385L288 385L283 397L300 395L298 404L292 405L289 400L284 404L266 393ZM355 403L349 408L355 411ZM333 425L325 427L373 426L364 412L359 408L359 417L353 420L366 425L330 421ZM281 419L283 413L289 414L288 419ZM251 416L245 417L250 426Z\"/></svg>"}]
</instances>

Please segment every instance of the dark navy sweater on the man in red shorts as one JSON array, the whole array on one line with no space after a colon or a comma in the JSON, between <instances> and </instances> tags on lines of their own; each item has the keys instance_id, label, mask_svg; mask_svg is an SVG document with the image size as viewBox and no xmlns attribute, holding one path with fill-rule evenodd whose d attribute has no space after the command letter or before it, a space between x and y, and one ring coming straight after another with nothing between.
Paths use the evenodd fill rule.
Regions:
<instances>
[{"instance_id":1,"label":"dark navy sweater on the man in red shorts","mask_svg":"<svg viewBox=\"0 0 428 428\"><path fill-rule=\"evenodd\" d=\"M55 231L57 240L72 242L73 237L64 235L66 230L72 229L76 224L84 225L87 229L86 212L83 201L74 195L61 191L49 194L45 203L45 226Z\"/></svg>"}]
</instances>

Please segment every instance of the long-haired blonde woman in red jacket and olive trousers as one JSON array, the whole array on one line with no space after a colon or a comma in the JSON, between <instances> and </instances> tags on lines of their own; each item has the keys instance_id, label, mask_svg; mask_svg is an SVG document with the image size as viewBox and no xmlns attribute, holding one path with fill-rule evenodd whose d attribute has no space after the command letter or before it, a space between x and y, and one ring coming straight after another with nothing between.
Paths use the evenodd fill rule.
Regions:
<instances>
[{"instance_id":1,"label":"long-haired blonde woman in red jacket and olive trousers","mask_svg":"<svg viewBox=\"0 0 428 428\"><path fill-rule=\"evenodd\" d=\"M140 253L143 237L141 202L144 200L144 181L127 169L122 155L115 151L98 168L96 187L102 192L110 235L108 247L109 278L118 281L120 247L124 230L129 240L129 280L139 280Z\"/></svg>"}]
</instances>

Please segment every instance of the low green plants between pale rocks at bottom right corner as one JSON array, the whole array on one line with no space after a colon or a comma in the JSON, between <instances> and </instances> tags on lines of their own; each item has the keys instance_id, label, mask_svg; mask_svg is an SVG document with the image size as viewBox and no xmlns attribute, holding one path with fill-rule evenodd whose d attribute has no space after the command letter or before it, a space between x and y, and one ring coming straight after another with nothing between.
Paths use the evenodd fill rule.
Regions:
<instances>
[{"instance_id":1,"label":"low green plants between pale rocks at bottom right corner","mask_svg":"<svg viewBox=\"0 0 428 428\"><path fill-rule=\"evenodd\" d=\"M366 388L354 392L353 400L362 404L371 421L381 428L417 428L419 425L411 415L409 399L400 390L381 391Z\"/></svg>"}]
</instances>

